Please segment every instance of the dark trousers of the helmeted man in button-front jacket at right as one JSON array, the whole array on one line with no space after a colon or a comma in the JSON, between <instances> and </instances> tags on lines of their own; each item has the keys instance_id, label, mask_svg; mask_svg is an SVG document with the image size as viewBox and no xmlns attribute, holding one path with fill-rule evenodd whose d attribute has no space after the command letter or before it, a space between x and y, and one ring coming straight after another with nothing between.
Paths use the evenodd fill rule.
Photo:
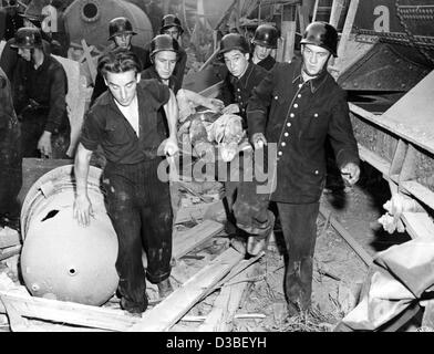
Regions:
<instances>
[{"instance_id":1,"label":"dark trousers of the helmeted man in button-front jacket at right","mask_svg":"<svg viewBox=\"0 0 434 354\"><path fill-rule=\"evenodd\" d=\"M285 272L287 300L299 310L307 310L311 303L319 202L277 202L277 207L288 251Z\"/></svg>"}]
</instances>

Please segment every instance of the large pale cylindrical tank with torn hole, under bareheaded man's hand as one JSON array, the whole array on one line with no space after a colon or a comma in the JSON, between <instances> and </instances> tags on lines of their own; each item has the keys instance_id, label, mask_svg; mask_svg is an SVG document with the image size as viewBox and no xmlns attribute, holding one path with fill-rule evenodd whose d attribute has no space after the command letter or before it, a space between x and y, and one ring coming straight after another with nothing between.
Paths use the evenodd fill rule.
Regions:
<instances>
[{"instance_id":1,"label":"large pale cylindrical tank with torn hole, under bareheaded man's hand","mask_svg":"<svg viewBox=\"0 0 434 354\"><path fill-rule=\"evenodd\" d=\"M35 295L101 305L116 291L117 237L100 189L102 170L91 166L87 192L94 217L87 227L73 218L73 166L58 167L30 188L21 210L21 272Z\"/></svg>"}]
</instances>

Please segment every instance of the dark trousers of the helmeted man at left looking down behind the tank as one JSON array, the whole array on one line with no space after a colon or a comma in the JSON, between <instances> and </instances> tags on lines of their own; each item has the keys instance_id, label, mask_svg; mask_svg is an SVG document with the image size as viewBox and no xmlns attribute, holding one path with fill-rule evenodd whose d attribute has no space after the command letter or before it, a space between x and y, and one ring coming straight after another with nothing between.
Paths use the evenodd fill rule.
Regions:
<instances>
[{"instance_id":1,"label":"dark trousers of the helmeted man at left looking down behind the tank","mask_svg":"<svg viewBox=\"0 0 434 354\"><path fill-rule=\"evenodd\" d=\"M22 157L41 157L38 142L44 132L48 112L31 111L21 115L21 148ZM65 118L68 119L68 117ZM51 136L52 158L66 158L70 146L71 129L69 125Z\"/></svg>"}]
</instances>

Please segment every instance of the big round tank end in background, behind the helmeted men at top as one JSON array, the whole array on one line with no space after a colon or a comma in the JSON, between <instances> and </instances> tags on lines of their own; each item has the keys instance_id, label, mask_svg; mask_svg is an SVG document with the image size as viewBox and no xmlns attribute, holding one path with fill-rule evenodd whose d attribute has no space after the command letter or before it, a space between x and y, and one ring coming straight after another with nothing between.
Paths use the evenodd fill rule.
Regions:
<instances>
[{"instance_id":1,"label":"big round tank end in background, behind the helmeted men at top","mask_svg":"<svg viewBox=\"0 0 434 354\"><path fill-rule=\"evenodd\" d=\"M81 44L84 39L89 45L93 44L103 50L110 42L108 22L118 17L131 20L137 32L132 43L144 46L151 42L153 31L146 13L134 3L124 0L76 0L64 12L64 21L71 42Z\"/></svg>"}]
</instances>

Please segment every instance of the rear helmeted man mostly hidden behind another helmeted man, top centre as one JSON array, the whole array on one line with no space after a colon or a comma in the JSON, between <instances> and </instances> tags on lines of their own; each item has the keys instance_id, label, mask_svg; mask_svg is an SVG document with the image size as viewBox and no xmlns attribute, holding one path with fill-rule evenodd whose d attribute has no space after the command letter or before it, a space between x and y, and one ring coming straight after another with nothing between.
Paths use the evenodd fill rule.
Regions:
<instances>
[{"instance_id":1,"label":"rear helmeted man mostly hidden behind another helmeted man, top centre","mask_svg":"<svg viewBox=\"0 0 434 354\"><path fill-rule=\"evenodd\" d=\"M174 40L178 42L178 56L177 62L175 65L175 70L173 75L176 77L176 91L183 86L185 66L187 64L187 52L180 45L180 37L184 33L184 29L180 25L179 19L174 14L166 14L162 20L162 25L159 28L159 34L168 34ZM143 69L146 70L147 67L153 66L153 62L151 60L151 42L145 45L145 62Z\"/></svg>"}]
</instances>

